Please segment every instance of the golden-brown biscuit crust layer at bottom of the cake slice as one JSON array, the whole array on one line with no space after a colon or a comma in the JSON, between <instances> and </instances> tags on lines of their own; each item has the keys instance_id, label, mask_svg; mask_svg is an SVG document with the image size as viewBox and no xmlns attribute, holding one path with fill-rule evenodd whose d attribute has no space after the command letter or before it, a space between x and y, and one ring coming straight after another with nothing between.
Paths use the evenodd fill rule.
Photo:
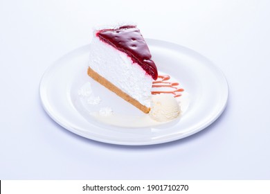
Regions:
<instances>
[{"instance_id":1,"label":"golden-brown biscuit crust layer at bottom of the cake slice","mask_svg":"<svg viewBox=\"0 0 270 194\"><path fill-rule=\"evenodd\" d=\"M94 80L99 82L101 85L107 87L107 89L113 91L115 94L117 94L118 96L120 96L121 98L126 100L127 102L131 103L132 105L134 105L138 109L141 109L142 112L144 112L144 113L150 112L150 107L146 107L145 105L142 105L141 103L138 102L138 100L135 100L134 98L132 98L131 96L126 94L124 91L122 91L121 89L119 89L118 87L113 85L107 79L103 78L98 73L96 73L96 71L93 71L93 69L91 69L90 67L88 67L87 74L91 78L93 78Z\"/></svg>"}]
</instances>

